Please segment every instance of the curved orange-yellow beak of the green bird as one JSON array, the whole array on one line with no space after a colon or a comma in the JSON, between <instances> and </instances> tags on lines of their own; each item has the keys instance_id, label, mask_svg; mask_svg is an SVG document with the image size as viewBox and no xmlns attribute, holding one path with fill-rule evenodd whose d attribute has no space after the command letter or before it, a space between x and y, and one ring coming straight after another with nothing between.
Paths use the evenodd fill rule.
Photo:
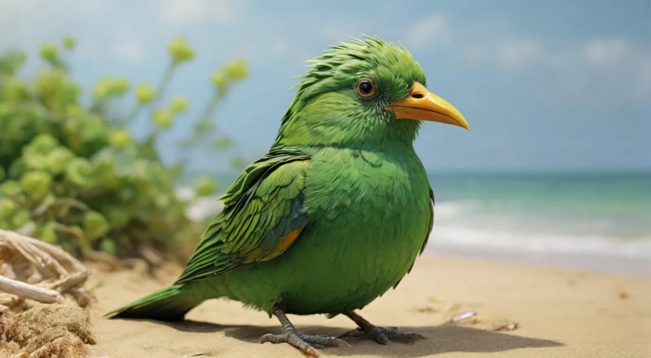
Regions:
<instances>
[{"instance_id":1,"label":"curved orange-yellow beak of the green bird","mask_svg":"<svg viewBox=\"0 0 651 358\"><path fill-rule=\"evenodd\" d=\"M411 86L409 96L391 103L384 109L393 112L398 119L431 120L470 130L468 122L454 106L418 82Z\"/></svg>"}]
</instances>

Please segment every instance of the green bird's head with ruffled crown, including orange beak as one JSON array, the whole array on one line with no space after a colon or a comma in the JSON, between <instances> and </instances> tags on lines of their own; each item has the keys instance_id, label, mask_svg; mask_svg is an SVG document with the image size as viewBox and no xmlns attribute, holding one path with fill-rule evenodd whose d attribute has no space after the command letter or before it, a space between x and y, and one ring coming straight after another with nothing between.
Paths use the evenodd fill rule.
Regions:
<instances>
[{"instance_id":1,"label":"green bird's head with ruffled crown, including orange beak","mask_svg":"<svg viewBox=\"0 0 651 358\"><path fill-rule=\"evenodd\" d=\"M309 62L277 145L381 150L411 146L425 120L469 129L456 108L426 88L420 64L402 46L367 37Z\"/></svg>"}]
</instances>

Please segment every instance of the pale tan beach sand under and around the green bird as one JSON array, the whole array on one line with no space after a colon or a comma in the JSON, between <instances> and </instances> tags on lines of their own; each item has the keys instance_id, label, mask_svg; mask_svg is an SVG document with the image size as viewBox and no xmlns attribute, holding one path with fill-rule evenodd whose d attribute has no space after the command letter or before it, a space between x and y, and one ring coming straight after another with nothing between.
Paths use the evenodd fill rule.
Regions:
<instances>
[{"instance_id":1,"label":"pale tan beach sand under and around the green bird","mask_svg":"<svg viewBox=\"0 0 651 358\"><path fill-rule=\"evenodd\" d=\"M89 357L303 357L287 344L258 344L265 333L280 332L275 318L223 299L203 303L182 324L101 317L177 274L94 275L91 281L101 286L91 311L97 343L87 345ZM477 315L450 323L467 311ZM380 346L347 338L350 348L322 348L322 357L651 357L651 280L639 277L423 255L396 290L359 313L427 339ZM343 316L289 318L311 334L355 327Z\"/></svg>"}]
</instances>

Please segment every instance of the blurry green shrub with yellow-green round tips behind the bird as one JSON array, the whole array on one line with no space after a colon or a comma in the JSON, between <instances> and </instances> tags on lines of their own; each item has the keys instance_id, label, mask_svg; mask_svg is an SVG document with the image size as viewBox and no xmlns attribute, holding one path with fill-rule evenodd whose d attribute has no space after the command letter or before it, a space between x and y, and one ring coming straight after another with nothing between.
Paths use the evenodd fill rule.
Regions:
<instances>
[{"instance_id":1,"label":"blurry green shrub with yellow-green round tips behind the bird","mask_svg":"<svg viewBox=\"0 0 651 358\"><path fill-rule=\"evenodd\" d=\"M169 67L157 88L142 82L130 94L128 79L103 77L90 103L83 103L64 61L75 46L70 36L62 49L44 44L39 53L47 68L30 82L17 74L25 54L0 54L0 228L85 258L95 251L142 257L148 248L185 258L203 225L186 217L189 203L177 197L174 184L193 150L231 146L230 139L219 137L212 115L231 86L247 77L245 62L231 61L210 76L214 96L195 120L193 133L180 143L182 160L165 165L158 137L190 102L180 95L167 105L160 102L174 70L191 61L195 51L184 40L173 40ZM115 115L117 100L128 95L135 99L133 109ZM142 111L148 111L152 129L137 140L128 128ZM215 190L209 176L197 179L197 195Z\"/></svg>"}]
</instances>

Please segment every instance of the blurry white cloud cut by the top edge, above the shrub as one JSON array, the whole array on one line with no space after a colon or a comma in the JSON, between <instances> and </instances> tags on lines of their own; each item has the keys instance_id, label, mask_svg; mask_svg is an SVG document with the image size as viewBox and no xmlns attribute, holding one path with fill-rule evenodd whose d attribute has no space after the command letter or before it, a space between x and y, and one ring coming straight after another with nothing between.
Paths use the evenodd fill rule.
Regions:
<instances>
[{"instance_id":1,"label":"blurry white cloud cut by the top edge, above the shrub","mask_svg":"<svg viewBox=\"0 0 651 358\"><path fill-rule=\"evenodd\" d=\"M186 25L202 21L230 22L238 17L243 4L234 0L165 0L159 15L169 25Z\"/></svg>"}]
</instances>

